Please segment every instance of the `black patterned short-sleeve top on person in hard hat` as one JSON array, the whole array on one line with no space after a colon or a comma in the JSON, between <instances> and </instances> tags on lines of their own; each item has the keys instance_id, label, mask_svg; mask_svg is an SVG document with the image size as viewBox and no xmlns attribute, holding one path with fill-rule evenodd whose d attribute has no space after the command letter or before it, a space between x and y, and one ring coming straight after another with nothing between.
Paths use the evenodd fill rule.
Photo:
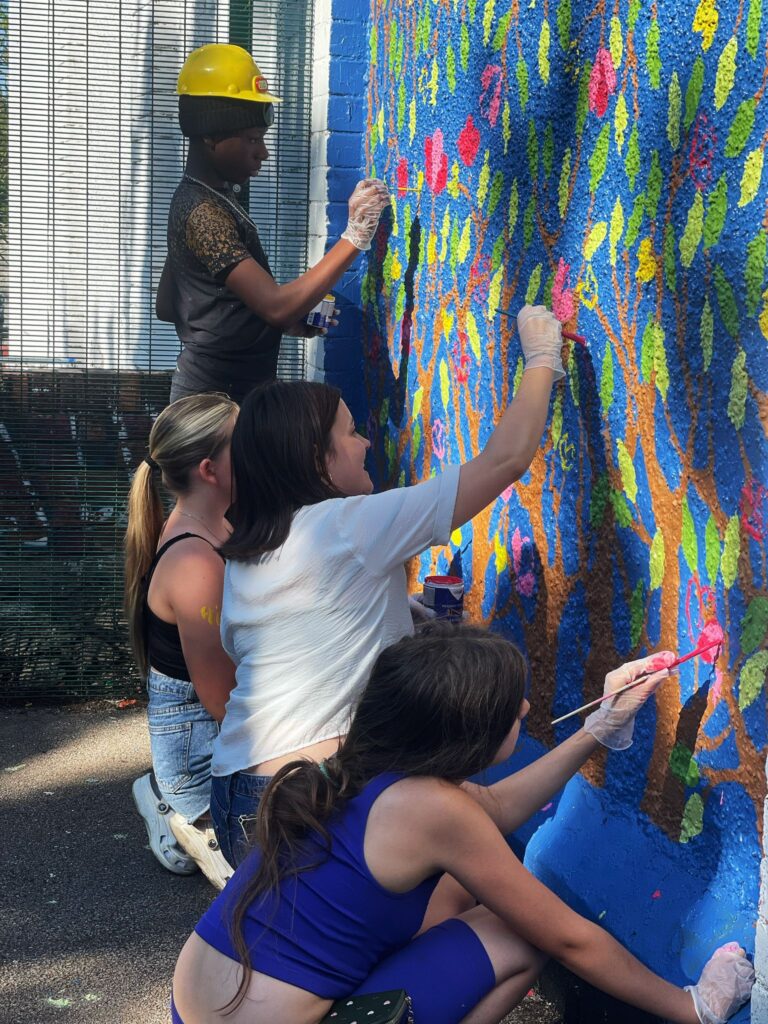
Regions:
<instances>
[{"instance_id":1,"label":"black patterned short-sleeve top on person in hard hat","mask_svg":"<svg viewBox=\"0 0 768 1024\"><path fill-rule=\"evenodd\" d=\"M231 188L182 178L168 215L168 262L183 345L175 381L185 391L224 391L240 401L275 376L282 332L224 284L248 257L271 274L258 231Z\"/></svg>"}]
</instances>

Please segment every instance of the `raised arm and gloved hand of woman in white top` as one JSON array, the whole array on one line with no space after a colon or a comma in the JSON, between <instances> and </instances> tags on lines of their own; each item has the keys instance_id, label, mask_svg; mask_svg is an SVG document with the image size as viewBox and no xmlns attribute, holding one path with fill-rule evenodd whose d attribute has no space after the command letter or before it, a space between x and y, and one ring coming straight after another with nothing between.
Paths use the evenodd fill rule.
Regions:
<instances>
[{"instance_id":1,"label":"raised arm and gloved hand of woman in white top","mask_svg":"<svg viewBox=\"0 0 768 1024\"><path fill-rule=\"evenodd\" d=\"M461 526L523 475L542 440L554 381L564 376L560 324L544 306L517 315L525 370L485 447L461 469L453 527Z\"/></svg>"}]
</instances>

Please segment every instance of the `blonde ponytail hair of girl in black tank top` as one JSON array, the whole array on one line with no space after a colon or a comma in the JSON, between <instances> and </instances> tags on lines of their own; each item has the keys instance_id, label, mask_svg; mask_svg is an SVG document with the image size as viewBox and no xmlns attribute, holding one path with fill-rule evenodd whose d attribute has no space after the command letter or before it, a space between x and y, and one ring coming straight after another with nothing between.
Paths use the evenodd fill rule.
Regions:
<instances>
[{"instance_id":1,"label":"blonde ponytail hair of girl in black tank top","mask_svg":"<svg viewBox=\"0 0 768 1024\"><path fill-rule=\"evenodd\" d=\"M186 494L189 475L204 459L215 459L231 436L238 406L224 394L195 394L164 409L150 432L150 459L133 474L125 531L125 613L136 665L146 674L143 578L163 529L160 477L170 493Z\"/></svg>"}]
</instances>

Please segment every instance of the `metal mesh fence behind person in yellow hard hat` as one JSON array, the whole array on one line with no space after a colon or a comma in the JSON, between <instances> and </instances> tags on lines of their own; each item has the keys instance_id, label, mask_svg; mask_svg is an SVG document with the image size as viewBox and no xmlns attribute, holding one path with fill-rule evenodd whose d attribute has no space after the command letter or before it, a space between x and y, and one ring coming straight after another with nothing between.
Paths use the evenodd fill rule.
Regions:
<instances>
[{"instance_id":1,"label":"metal mesh fence behind person in yellow hard hat","mask_svg":"<svg viewBox=\"0 0 768 1024\"><path fill-rule=\"evenodd\" d=\"M275 278L306 267L311 0L0 3L0 696L140 687L125 499L179 346L154 314L190 49L250 47L284 97L247 203ZM301 377L285 339L279 373Z\"/></svg>"}]
</instances>

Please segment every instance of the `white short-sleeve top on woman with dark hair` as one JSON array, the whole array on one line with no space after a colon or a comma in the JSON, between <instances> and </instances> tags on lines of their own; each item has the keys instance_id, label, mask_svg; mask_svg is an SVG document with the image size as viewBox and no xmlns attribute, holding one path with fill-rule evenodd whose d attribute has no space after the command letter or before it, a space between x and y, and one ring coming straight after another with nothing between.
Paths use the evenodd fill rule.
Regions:
<instances>
[{"instance_id":1,"label":"white short-sleeve top on woman with dark hair","mask_svg":"<svg viewBox=\"0 0 768 1024\"><path fill-rule=\"evenodd\" d=\"M237 682L214 775L347 731L379 651L414 631L403 562L447 544L459 470L305 506L282 548L226 563L221 642Z\"/></svg>"}]
</instances>

